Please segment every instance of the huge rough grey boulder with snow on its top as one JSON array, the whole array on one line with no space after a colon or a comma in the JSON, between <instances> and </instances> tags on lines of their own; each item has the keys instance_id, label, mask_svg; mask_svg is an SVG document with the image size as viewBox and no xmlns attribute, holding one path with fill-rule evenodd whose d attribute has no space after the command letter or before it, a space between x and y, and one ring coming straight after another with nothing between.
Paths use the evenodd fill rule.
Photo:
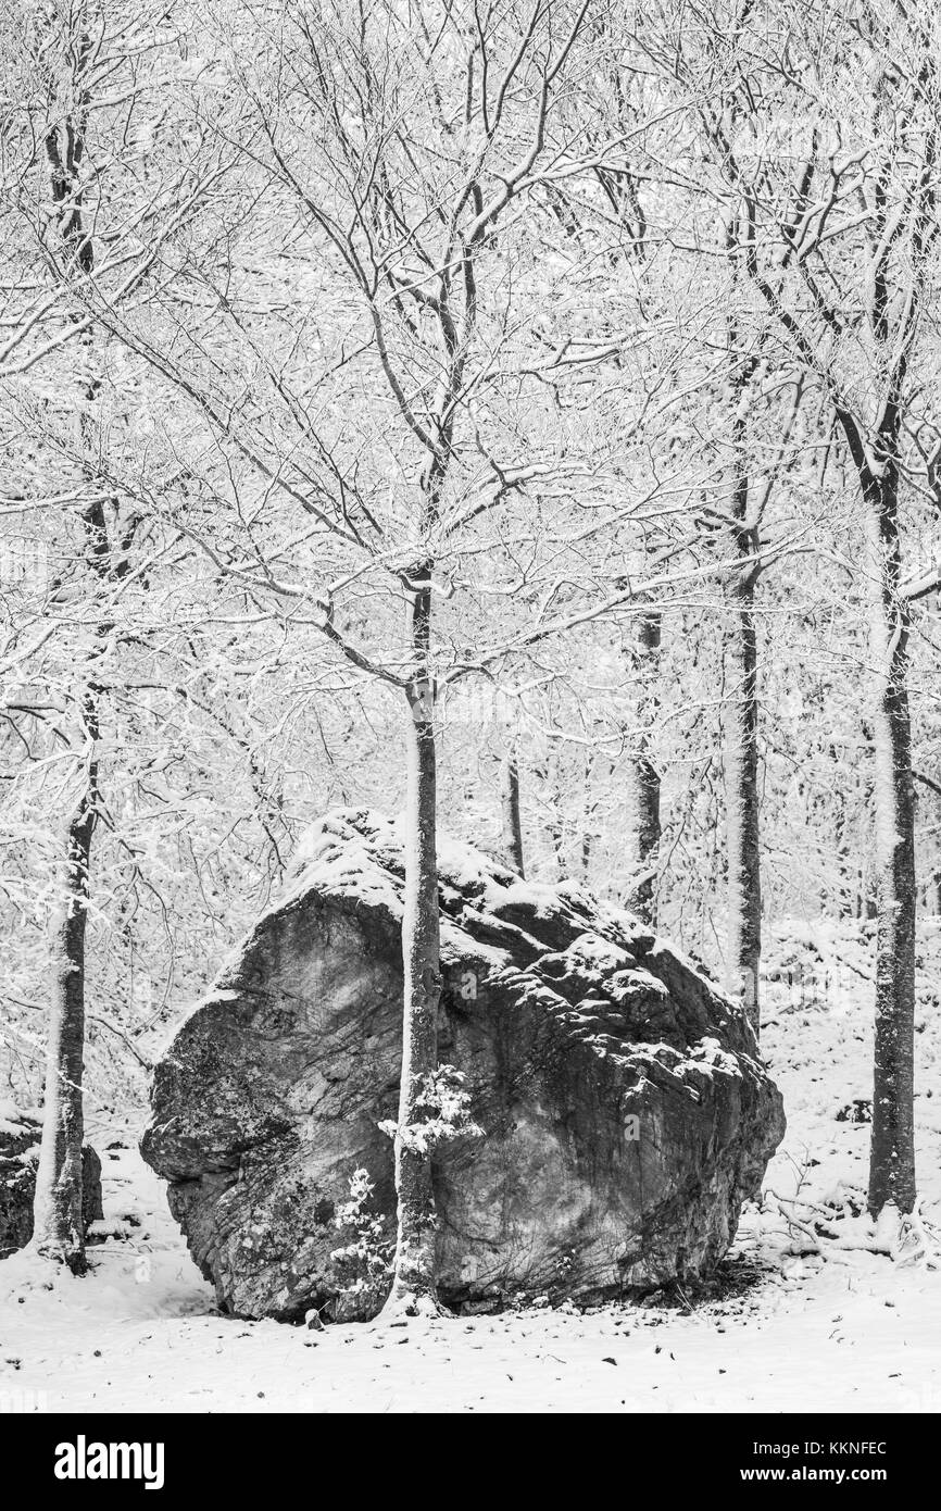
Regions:
<instances>
[{"instance_id":1,"label":"huge rough grey boulder with snow on its top","mask_svg":"<svg viewBox=\"0 0 941 1511\"><path fill-rule=\"evenodd\" d=\"M440 1059L483 1130L433 1160L443 1299L704 1275L784 1132L743 1012L574 882L526 882L453 842L440 870ZM334 1256L358 1236L337 1225L356 1170L375 1233L394 1225L378 1124L399 1097L402 875L397 825L328 814L157 1065L143 1157L225 1310L375 1310Z\"/></svg>"}]
</instances>

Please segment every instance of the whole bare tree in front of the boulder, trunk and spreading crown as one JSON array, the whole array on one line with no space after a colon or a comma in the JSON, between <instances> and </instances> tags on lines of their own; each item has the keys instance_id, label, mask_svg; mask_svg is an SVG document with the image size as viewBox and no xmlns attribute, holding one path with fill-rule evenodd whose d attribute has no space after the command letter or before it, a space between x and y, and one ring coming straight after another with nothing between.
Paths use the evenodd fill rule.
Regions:
<instances>
[{"instance_id":1,"label":"whole bare tree in front of the boulder, trunk and spreading crown","mask_svg":"<svg viewBox=\"0 0 941 1511\"><path fill-rule=\"evenodd\" d=\"M292 261L307 257L302 277L313 272L322 287L302 337L298 326L288 334L270 304L258 319L233 233L214 258L181 270L211 311L207 345L192 316L154 332L100 311L195 405L240 468L234 496L225 493L234 468L204 465L199 476L240 521L237 559L181 512L177 527L190 529L218 568L237 574L269 610L284 603L308 615L343 660L402 698L405 1003L388 1309L406 1315L437 1306L435 719L449 653L435 621L453 592L449 573L462 535L492 530L495 511L557 465L501 453L509 432L497 399L508 363L511 370L518 363L518 296L501 257L520 233L524 196L542 174L565 171L566 148L553 141L550 121L585 11L539 0L526 17L494 11L465 24L470 12L450 6L403 15L370 0L353 17L341 5L288 5L273 38L249 8L205 8L201 24L236 101L218 124L221 150L239 163L240 192L278 205L292 227ZM254 258L269 255L257 222L243 239ZM325 307L346 335L338 354L311 363L302 343L314 338ZM207 361L222 328L254 369L248 390L239 390L231 366L225 373ZM369 461L353 409L369 416ZM292 538L295 509L304 524ZM248 517L255 523L245 526ZM302 550L320 552L310 583L298 576ZM390 607L403 610L403 633Z\"/></svg>"}]
</instances>

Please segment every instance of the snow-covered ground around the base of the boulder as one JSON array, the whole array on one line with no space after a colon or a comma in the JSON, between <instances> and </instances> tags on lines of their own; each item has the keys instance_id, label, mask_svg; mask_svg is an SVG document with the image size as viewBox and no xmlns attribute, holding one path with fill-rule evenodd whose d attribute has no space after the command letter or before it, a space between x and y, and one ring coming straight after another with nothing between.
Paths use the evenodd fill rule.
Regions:
<instances>
[{"instance_id":1,"label":"snow-covered ground around the base of the boulder","mask_svg":"<svg viewBox=\"0 0 941 1511\"><path fill-rule=\"evenodd\" d=\"M920 949L924 1225L894 1259L873 1251L882 1234L861 1215L868 947L846 928L791 923L769 952L781 979L766 987L763 1040L788 1132L704 1293L322 1333L222 1318L136 1130L92 1127L112 1236L85 1280L50 1278L27 1254L0 1263L0 1410L941 1410L941 922L926 922Z\"/></svg>"}]
</instances>

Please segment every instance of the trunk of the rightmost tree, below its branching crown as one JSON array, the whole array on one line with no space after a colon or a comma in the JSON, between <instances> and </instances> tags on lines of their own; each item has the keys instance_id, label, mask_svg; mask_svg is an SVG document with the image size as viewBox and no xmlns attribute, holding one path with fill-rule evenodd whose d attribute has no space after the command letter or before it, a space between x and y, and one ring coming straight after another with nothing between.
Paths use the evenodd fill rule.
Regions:
<instances>
[{"instance_id":1,"label":"trunk of the rightmost tree, below its branching crown","mask_svg":"<svg viewBox=\"0 0 941 1511\"><path fill-rule=\"evenodd\" d=\"M872 491L872 490L870 490ZM902 561L897 474L888 464L879 509L870 508L870 603L875 665L876 822L876 1044L868 1207L915 1203L915 830L908 706L908 606L899 592ZM870 500L872 502L872 500Z\"/></svg>"}]
</instances>

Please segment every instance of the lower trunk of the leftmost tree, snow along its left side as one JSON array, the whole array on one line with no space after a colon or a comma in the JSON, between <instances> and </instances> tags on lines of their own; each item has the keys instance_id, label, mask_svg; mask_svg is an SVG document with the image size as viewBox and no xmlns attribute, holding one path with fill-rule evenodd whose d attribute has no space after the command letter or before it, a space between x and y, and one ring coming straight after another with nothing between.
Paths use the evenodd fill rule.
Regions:
<instances>
[{"instance_id":1,"label":"lower trunk of the leftmost tree, snow along its left side","mask_svg":"<svg viewBox=\"0 0 941 1511\"><path fill-rule=\"evenodd\" d=\"M85 925L97 786L92 759L82 804L68 828L66 895L54 944L42 1142L33 1197L33 1247L77 1275L86 1269L82 1215Z\"/></svg>"}]
</instances>

